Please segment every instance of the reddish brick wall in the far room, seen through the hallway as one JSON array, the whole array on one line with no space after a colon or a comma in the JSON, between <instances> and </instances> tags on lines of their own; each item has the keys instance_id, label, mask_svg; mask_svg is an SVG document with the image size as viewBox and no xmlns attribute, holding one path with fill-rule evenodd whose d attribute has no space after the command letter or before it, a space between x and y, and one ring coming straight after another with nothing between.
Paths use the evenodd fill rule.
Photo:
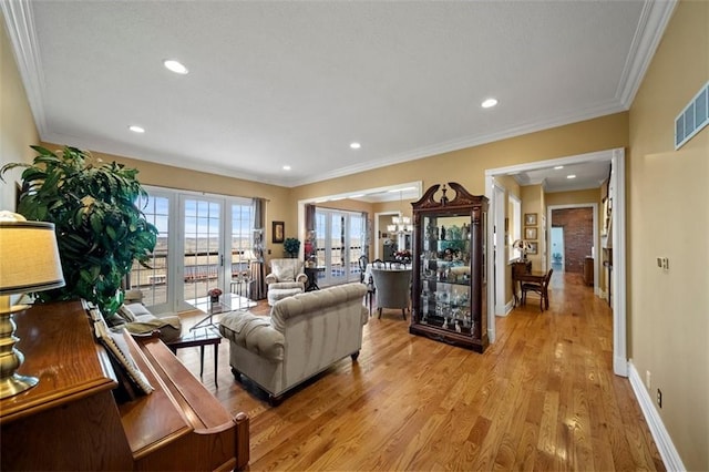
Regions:
<instances>
[{"instance_id":1,"label":"reddish brick wall in the far room, seen through the hallway","mask_svg":"<svg viewBox=\"0 0 709 472\"><path fill-rule=\"evenodd\" d=\"M594 236L593 208L552 211L552 227L564 228L564 260L567 273L584 273L586 256L590 256Z\"/></svg>"}]
</instances>

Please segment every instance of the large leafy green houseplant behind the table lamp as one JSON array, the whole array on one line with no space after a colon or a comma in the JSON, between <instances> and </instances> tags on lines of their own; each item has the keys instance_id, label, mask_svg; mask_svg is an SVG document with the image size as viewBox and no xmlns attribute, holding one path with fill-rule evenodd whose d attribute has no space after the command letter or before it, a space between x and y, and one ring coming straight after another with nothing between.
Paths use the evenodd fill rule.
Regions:
<instances>
[{"instance_id":1,"label":"large leafy green houseplant behind the table lamp","mask_svg":"<svg viewBox=\"0 0 709 472\"><path fill-rule=\"evenodd\" d=\"M133 260L146 265L157 229L136 206L145 191L137 170L103 163L75 147L39 153L32 164L10 163L22 172L18 213L55 226L65 287L41 291L43 301L84 298L107 316L123 302L121 283ZM32 250L32 248L28 248Z\"/></svg>"}]
</instances>

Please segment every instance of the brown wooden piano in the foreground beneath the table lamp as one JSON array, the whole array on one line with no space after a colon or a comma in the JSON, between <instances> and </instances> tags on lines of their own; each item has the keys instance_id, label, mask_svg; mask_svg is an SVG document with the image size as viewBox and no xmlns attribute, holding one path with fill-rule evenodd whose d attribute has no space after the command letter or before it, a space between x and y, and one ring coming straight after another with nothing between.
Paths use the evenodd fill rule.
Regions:
<instances>
[{"instance_id":1,"label":"brown wooden piano in the foreground beneath the table lamp","mask_svg":"<svg viewBox=\"0 0 709 472\"><path fill-rule=\"evenodd\" d=\"M249 420L233 417L158 339L129 348L155 390L116 402L116 371L80 301L14 315L19 372L40 383L0 400L0 469L233 470L249 459Z\"/></svg>"}]
</instances>

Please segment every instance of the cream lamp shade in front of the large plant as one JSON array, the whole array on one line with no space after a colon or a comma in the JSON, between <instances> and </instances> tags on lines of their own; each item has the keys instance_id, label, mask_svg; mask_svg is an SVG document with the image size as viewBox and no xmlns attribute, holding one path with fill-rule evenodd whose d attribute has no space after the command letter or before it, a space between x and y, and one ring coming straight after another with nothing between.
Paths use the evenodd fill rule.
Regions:
<instances>
[{"instance_id":1,"label":"cream lamp shade in front of the large plant","mask_svg":"<svg viewBox=\"0 0 709 472\"><path fill-rule=\"evenodd\" d=\"M54 224L0 214L0 295L64 286Z\"/></svg>"}]
</instances>

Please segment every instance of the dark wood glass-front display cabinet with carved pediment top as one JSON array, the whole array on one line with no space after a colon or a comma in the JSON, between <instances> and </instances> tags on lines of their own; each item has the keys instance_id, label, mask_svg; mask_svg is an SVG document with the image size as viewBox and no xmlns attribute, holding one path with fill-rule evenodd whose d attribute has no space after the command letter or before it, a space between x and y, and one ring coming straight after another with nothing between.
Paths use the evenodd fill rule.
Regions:
<instances>
[{"instance_id":1,"label":"dark wood glass-front display cabinet with carved pediment top","mask_svg":"<svg viewBox=\"0 0 709 472\"><path fill-rule=\"evenodd\" d=\"M454 197L448 195L455 193ZM438 199L436 199L438 197ZM487 198L431 186L413 207L409 331L483 352L487 347Z\"/></svg>"}]
</instances>

